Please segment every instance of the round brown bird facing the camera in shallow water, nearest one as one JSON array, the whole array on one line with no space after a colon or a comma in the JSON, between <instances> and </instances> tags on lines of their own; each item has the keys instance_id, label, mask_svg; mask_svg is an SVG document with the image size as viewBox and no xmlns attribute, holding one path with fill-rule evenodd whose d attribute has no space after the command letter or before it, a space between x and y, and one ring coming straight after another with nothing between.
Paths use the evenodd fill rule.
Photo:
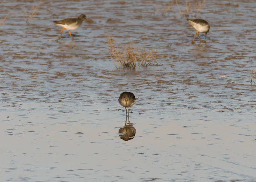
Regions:
<instances>
[{"instance_id":1,"label":"round brown bird facing the camera in shallow water, nearest one","mask_svg":"<svg viewBox=\"0 0 256 182\"><path fill-rule=\"evenodd\" d=\"M128 116L129 116L130 108L131 108L131 106L133 106L135 104L136 98L135 98L134 94L131 92L123 92L122 94L120 94L118 102L120 105L125 107L126 116L127 116L126 108L128 108Z\"/></svg>"}]
</instances>

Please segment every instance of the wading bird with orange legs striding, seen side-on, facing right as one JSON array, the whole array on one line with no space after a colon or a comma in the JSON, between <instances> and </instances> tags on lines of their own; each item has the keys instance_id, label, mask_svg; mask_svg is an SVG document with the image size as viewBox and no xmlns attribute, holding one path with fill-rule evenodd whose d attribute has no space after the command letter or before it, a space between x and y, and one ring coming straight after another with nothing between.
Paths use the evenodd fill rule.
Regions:
<instances>
[{"instance_id":1,"label":"wading bird with orange legs striding, seen side-on, facing right","mask_svg":"<svg viewBox=\"0 0 256 182\"><path fill-rule=\"evenodd\" d=\"M76 30L76 28L79 28L79 26L81 26L84 20L86 20L86 16L84 14L81 14L78 18L67 18L60 21L54 21L55 25L62 27L61 35L58 37L56 41L58 41L61 38L62 31L64 29L67 29L69 31L70 37L72 37L71 30ZM72 39L74 40L74 37L72 37Z\"/></svg>"}]
</instances>

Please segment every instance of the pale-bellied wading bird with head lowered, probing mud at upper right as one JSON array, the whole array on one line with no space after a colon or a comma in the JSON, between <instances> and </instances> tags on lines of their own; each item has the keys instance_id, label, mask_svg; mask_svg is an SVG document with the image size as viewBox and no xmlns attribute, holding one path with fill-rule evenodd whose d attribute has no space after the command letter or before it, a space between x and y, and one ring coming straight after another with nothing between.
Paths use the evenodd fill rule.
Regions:
<instances>
[{"instance_id":1,"label":"pale-bellied wading bird with head lowered, probing mud at upper right","mask_svg":"<svg viewBox=\"0 0 256 182\"><path fill-rule=\"evenodd\" d=\"M198 38L199 38L199 40L201 42L201 39L199 37L199 32L204 32L205 33L205 39L206 39L207 32L210 30L210 25L209 25L209 23L207 21L202 20L202 19L194 19L194 20L187 19L187 21L196 30L194 39L192 40L192 43L194 43L196 34L198 35Z\"/></svg>"}]
</instances>

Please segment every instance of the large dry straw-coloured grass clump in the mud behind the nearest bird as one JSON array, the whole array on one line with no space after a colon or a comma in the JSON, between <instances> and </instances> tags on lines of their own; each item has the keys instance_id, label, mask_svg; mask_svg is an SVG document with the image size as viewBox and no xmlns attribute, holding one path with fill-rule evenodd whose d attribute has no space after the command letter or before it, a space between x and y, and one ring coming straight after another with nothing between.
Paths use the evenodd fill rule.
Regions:
<instances>
[{"instance_id":1,"label":"large dry straw-coloured grass clump in the mud behind the nearest bird","mask_svg":"<svg viewBox=\"0 0 256 182\"><path fill-rule=\"evenodd\" d=\"M116 46L116 41L113 40L113 37L107 37L108 40L108 51L113 61L113 64L116 66L116 69L120 66L135 68L136 65L148 66L148 65L162 65L157 63L157 51L151 49L149 51L145 50L145 44L142 48L134 46L130 40L127 44L120 44Z\"/></svg>"}]
</instances>

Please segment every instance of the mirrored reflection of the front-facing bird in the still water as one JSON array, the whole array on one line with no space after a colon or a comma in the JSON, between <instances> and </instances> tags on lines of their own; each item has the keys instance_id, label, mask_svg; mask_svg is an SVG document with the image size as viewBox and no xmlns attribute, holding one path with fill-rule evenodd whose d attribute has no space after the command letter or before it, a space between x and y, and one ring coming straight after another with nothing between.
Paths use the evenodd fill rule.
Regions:
<instances>
[{"instance_id":1,"label":"mirrored reflection of the front-facing bird in the still water","mask_svg":"<svg viewBox=\"0 0 256 182\"><path fill-rule=\"evenodd\" d=\"M125 119L125 125L119 129L118 134L121 139L128 141L130 139L134 139L136 134L136 129L133 127L134 123L130 123L130 119L128 117L128 123L127 123L127 116Z\"/></svg>"}]
</instances>

